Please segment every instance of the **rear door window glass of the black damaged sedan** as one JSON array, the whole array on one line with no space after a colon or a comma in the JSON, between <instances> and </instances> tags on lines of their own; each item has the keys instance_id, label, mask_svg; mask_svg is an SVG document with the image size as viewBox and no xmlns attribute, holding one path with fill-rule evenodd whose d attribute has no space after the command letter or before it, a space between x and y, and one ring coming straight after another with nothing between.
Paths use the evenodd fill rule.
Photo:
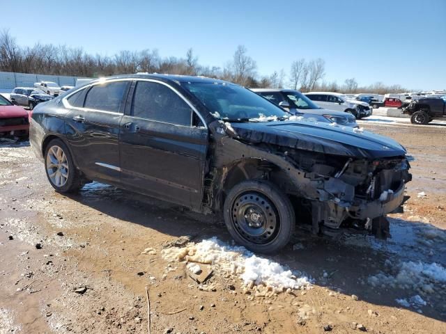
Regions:
<instances>
[{"instance_id":1,"label":"rear door window glass of the black damaged sedan","mask_svg":"<svg viewBox=\"0 0 446 334\"><path fill-rule=\"evenodd\" d=\"M86 93L85 108L119 112L129 81L115 81L96 85Z\"/></svg>"}]
</instances>

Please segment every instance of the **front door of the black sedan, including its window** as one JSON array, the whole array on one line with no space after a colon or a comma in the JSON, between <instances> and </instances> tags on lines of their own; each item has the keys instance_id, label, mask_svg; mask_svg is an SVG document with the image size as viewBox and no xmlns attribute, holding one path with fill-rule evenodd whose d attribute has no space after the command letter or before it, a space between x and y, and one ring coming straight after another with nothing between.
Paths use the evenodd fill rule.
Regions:
<instances>
[{"instance_id":1,"label":"front door of the black sedan, including its window","mask_svg":"<svg viewBox=\"0 0 446 334\"><path fill-rule=\"evenodd\" d=\"M121 120L121 182L199 208L208 129L192 104L160 81L135 81ZM130 97L129 95L129 97Z\"/></svg>"}]
</instances>

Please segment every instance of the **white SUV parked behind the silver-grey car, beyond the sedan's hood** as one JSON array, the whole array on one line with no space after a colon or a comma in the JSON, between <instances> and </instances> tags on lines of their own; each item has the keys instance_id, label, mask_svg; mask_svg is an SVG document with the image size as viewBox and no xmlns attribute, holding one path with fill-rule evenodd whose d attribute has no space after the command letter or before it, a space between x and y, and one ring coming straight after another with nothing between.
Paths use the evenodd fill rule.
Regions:
<instances>
[{"instance_id":1,"label":"white SUV parked behind the silver-grey car, beyond the sedan's hood","mask_svg":"<svg viewBox=\"0 0 446 334\"><path fill-rule=\"evenodd\" d=\"M370 116L372 111L370 106L364 102L350 100L344 94L332 92L309 92L305 93L310 100L325 109L344 111L351 113L355 118L360 119ZM361 106L361 107L360 107Z\"/></svg>"}]
</instances>

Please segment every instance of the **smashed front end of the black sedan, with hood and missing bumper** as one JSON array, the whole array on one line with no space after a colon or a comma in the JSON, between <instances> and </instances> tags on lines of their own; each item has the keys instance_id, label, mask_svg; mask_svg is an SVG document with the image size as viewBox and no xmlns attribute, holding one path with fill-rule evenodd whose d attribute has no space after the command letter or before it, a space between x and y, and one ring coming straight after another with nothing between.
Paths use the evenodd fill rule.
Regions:
<instances>
[{"instance_id":1,"label":"smashed front end of the black sedan, with hood and missing bumper","mask_svg":"<svg viewBox=\"0 0 446 334\"><path fill-rule=\"evenodd\" d=\"M293 199L296 222L315 234L350 228L390 236L385 215L401 212L411 180L401 145L308 122L215 127L205 180L208 207L218 210L226 191L241 180L268 180Z\"/></svg>"}]
</instances>

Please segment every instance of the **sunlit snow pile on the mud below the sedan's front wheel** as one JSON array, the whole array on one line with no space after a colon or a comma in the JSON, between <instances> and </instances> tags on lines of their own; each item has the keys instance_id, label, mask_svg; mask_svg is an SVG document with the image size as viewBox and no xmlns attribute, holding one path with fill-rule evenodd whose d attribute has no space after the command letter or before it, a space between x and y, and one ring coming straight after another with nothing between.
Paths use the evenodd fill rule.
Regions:
<instances>
[{"instance_id":1,"label":"sunlit snow pile on the mud below the sedan's front wheel","mask_svg":"<svg viewBox=\"0 0 446 334\"><path fill-rule=\"evenodd\" d=\"M162 251L164 259L210 264L220 273L238 276L245 287L266 287L268 292L283 292L285 289L305 289L312 279L299 271L291 271L265 257L259 257L245 247L229 246L216 237L184 248L167 248Z\"/></svg>"}]
</instances>

